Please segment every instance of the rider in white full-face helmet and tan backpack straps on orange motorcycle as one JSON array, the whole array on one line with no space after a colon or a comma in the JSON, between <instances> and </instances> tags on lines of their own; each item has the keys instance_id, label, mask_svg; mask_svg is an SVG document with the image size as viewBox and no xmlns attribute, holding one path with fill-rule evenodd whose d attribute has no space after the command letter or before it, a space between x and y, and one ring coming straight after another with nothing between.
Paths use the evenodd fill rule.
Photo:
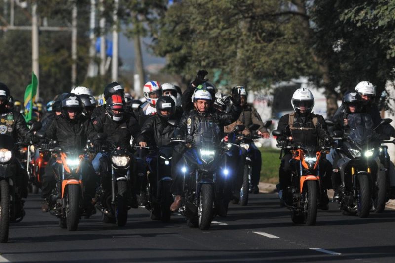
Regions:
<instances>
[{"instance_id":1,"label":"rider in white full-face helmet and tan backpack straps on orange motorcycle","mask_svg":"<svg viewBox=\"0 0 395 263\"><path fill-rule=\"evenodd\" d=\"M282 116L278 122L277 129L284 133L283 136L277 137L277 142L281 146L287 144L287 138L292 137L292 142L302 143L306 146L318 147L320 143L324 142L327 138L326 123L321 115L311 113L314 106L314 97L311 91L307 88L297 89L291 99L294 112ZM287 186L291 183L291 166L290 160L292 153L290 150L285 149L285 154L281 159L279 168L280 190L284 192ZM321 170L329 170L330 164L326 159L321 158ZM324 174L324 173L321 173ZM320 196L320 209L328 209L328 196L326 188L329 188L326 178L330 181L330 174L321 179L321 196ZM322 184L324 184L322 186ZM281 204L284 201L282 195Z\"/></svg>"}]
</instances>

